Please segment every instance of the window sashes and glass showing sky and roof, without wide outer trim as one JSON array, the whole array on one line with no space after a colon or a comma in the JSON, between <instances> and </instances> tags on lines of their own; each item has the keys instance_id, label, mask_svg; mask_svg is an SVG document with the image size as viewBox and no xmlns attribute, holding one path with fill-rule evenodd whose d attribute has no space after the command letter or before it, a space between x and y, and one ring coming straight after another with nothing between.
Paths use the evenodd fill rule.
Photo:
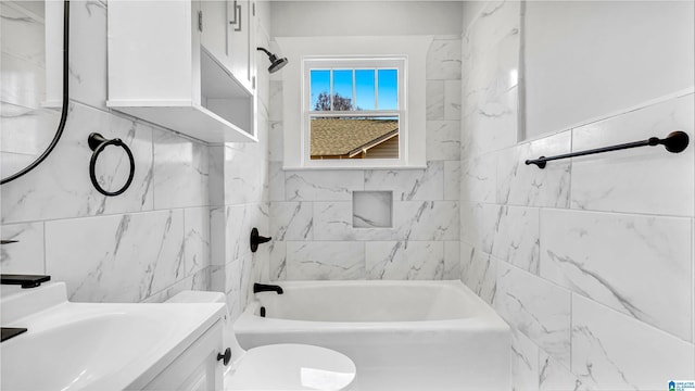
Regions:
<instances>
[{"instance_id":1,"label":"window sashes and glass showing sky and roof, without wide outer trim","mask_svg":"<svg viewBox=\"0 0 695 391\"><path fill-rule=\"evenodd\" d=\"M405 59L309 59L304 70L309 160L399 161Z\"/></svg>"}]
</instances>

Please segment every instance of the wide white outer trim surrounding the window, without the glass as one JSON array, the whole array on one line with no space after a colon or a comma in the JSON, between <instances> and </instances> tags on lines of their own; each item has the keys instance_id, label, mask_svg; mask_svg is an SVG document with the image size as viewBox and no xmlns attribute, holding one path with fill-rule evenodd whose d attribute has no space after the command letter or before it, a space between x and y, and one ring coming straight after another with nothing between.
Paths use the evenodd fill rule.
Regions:
<instances>
[{"instance_id":1,"label":"wide white outer trim surrounding the window, without the glass","mask_svg":"<svg viewBox=\"0 0 695 391\"><path fill-rule=\"evenodd\" d=\"M399 37L276 37L278 51L290 62L278 75L282 79L283 169L425 168L426 63L432 36ZM402 59L403 111L399 159L311 160L306 103L311 99L305 61L316 59ZM374 65L369 66L370 68ZM401 73L399 73L401 76ZM354 112L359 113L359 112ZM407 116L407 117L406 117Z\"/></svg>"}]
</instances>

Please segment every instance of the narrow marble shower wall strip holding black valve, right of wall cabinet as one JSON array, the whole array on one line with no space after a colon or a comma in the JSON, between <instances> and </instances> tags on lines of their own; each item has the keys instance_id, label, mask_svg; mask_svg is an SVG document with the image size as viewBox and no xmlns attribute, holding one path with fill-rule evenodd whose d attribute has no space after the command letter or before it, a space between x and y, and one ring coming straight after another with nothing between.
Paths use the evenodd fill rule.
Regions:
<instances>
[{"instance_id":1,"label":"narrow marble shower wall strip holding black valve, right of wall cabinet","mask_svg":"<svg viewBox=\"0 0 695 391\"><path fill-rule=\"evenodd\" d=\"M256 46L269 47L269 2L256 2ZM208 148L211 289L224 292L236 319L253 298L253 282L269 281L270 244L251 252L253 227L270 236L268 186L270 76L267 56L256 55L257 143L227 143Z\"/></svg>"}]
</instances>

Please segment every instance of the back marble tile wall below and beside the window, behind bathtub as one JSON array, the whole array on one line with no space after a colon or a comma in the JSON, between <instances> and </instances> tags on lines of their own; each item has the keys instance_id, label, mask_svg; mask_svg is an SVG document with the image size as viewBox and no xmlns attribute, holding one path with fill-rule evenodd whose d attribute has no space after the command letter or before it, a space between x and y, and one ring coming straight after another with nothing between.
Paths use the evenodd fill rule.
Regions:
<instances>
[{"instance_id":1,"label":"back marble tile wall below and beside the window, behind bathtub","mask_svg":"<svg viewBox=\"0 0 695 391\"><path fill-rule=\"evenodd\" d=\"M425 169L282 171L282 83L270 81L271 279L459 277L460 49L438 36L428 53ZM392 197L390 224L353 225L355 192Z\"/></svg>"}]
</instances>

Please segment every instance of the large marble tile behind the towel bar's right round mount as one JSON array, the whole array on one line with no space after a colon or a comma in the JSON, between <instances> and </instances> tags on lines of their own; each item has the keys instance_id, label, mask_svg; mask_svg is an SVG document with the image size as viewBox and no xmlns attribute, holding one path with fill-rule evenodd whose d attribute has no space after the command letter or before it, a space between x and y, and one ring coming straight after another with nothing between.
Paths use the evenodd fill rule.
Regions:
<instances>
[{"instance_id":1,"label":"large marble tile behind the towel bar's right round mount","mask_svg":"<svg viewBox=\"0 0 695 391\"><path fill-rule=\"evenodd\" d=\"M572 130L572 150L666 137L682 129L693 138L693 94L632 111ZM668 153L637 148L572 160L571 207L577 210L693 216L691 146ZM668 175L665 175L668 173Z\"/></svg>"}]
</instances>

